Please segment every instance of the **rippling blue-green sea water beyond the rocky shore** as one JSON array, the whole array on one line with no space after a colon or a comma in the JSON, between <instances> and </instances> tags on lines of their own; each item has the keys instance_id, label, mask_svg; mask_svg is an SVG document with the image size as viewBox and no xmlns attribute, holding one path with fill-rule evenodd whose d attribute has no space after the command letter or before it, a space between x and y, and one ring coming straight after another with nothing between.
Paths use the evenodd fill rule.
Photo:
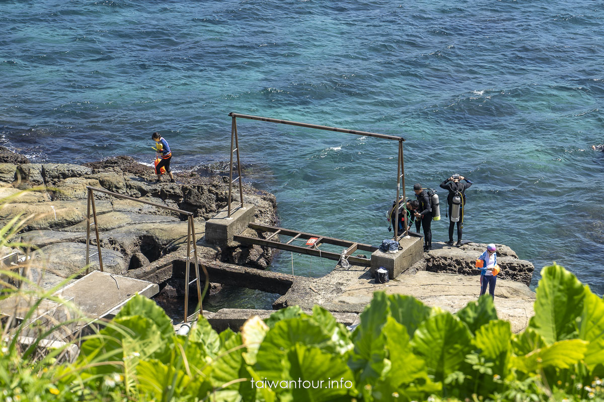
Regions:
<instances>
[{"instance_id":1,"label":"rippling blue-green sea water beyond the rocky shore","mask_svg":"<svg viewBox=\"0 0 604 402\"><path fill-rule=\"evenodd\" d=\"M0 2L0 144L42 162L228 159L235 111L406 139L407 194L458 172L464 239L604 293L604 2ZM246 180L287 228L390 236L396 142L238 120ZM441 198L445 196L440 192ZM448 222L434 222L434 240ZM280 253L318 277L335 262ZM216 306L270 306L231 291Z\"/></svg>"}]
</instances>

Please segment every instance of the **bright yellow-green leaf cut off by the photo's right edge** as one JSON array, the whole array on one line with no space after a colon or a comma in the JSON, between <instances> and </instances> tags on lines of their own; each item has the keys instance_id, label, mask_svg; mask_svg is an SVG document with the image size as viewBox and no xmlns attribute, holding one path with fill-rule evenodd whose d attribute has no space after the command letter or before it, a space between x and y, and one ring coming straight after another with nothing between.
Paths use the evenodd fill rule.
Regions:
<instances>
[{"instance_id":1,"label":"bright yellow-green leaf cut off by the photo's right edge","mask_svg":"<svg viewBox=\"0 0 604 402\"><path fill-rule=\"evenodd\" d=\"M585 352L585 364L593 370L604 362L604 300L589 288L583 301L579 338L590 342Z\"/></svg>"}]
</instances>

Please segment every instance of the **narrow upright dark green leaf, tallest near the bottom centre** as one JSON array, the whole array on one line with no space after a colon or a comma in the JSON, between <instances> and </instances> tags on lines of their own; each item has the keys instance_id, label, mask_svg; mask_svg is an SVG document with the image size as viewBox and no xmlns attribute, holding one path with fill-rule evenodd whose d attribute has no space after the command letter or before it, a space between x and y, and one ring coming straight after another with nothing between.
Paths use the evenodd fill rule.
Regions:
<instances>
[{"instance_id":1,"label":"narrow upright dark green leaf, tallest near the bottom centre","mask_svg":"<svg viewBox=\"0 0 604 402\"><path fill-rule=\"evenodd\" d=\"M357 373L359 385L379 378L385 369L385 336L382 327L389 312L385 292L375 292L373 300L361 313L361 324L353 332L355 349L350 367Z\"/></svg>"}]
</instances>

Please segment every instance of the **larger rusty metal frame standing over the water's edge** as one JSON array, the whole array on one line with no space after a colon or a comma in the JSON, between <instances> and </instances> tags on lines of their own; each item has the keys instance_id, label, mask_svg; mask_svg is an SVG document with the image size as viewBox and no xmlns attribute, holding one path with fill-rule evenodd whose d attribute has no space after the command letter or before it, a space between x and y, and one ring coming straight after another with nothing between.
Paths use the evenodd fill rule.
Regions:
<instances>
[{"instance_id":1,"label":"larger rusty metal frame standing over the water's edge","mask_svg":"<svg viewBox=\"0 0 604 402\"><path fill-rule=\"evenodd\" d=\"M231 123L231 164L230 164L229 185L228 185L228 217L229 218L231 217L231 189L233 188L233 182L237 181L237 180L239 180L240 204L238 206L236 206L235 208L243 207L243 188L242 188L242 183L241 183L241 164L239 162L239 138L237 137L237 118L265 121L265 122L271 122L271 123L288 124L288 125L295 125L298 127L316 128L318 130L337 131L338 133L356 134L358 136L367 136L367 137L374 137L374 138L398 141L399 142L399 156L397 158L396 201L394 201L394 202L397 203L399 201L400 184L401 184L400 182L401 181L403 184L403 201L406 200L405 167L403 165L403 141L405 141L405 139L403 137L389 136L387 134L368 133L367 131L349 130L347 128L328 127L325 125L301 123L301 122L295 122L295 121L289 121L289 120L265 118L265 117L261 117L261 116L240 115L239 113L233 113L233 112L229 113L228 115L231 116L231 118L233 118L233 121ZM233 145L235 145L236 148L233 148ZM239 174L239 177L235 178L235 180L233 180L233 152L237 152L237 173ZM400 234L400 236L399 236L399 233L398 233L399 232L399 225L398 225L399 208L398 208L398 206L396 206L396 217L394 218L394 220L395 220L395 223L393 225L394 226L394 239L399 240L400 237L403 237L408 233L408 222L407 222L407 216L405 214L405 224L403 225L403 233ZM285 234L285 233L283 233L283 234ZM342 240L342 241L344 241L344 240ZM276 243L276 242L274 242L274 243ZM278 243L278 244L281 244L281 243ZM325 254L325 253L323 253L323 254Z\"/></svg>"}]
</instances>

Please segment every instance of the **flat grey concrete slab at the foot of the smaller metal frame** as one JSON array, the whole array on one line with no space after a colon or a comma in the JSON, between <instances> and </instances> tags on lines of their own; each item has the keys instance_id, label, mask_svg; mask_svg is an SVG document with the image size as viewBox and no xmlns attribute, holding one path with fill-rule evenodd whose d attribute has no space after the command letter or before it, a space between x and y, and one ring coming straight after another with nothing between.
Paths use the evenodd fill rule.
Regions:
<instances>
[{"instance_id":1,"label":"flat grey concrete slab at the foot of the smaller metal frame","mask_svg":"<svg viewBox=\"0 0 604 402\"><path fill-rule=\"evenodd\" d=\"M88 275L56 292L56 296L73 298L89 318L103 318L126 304L135 294L153 297L158 294L155 283L126 278L107 272L92 271Z\"/></svg>"}]
</instances>

